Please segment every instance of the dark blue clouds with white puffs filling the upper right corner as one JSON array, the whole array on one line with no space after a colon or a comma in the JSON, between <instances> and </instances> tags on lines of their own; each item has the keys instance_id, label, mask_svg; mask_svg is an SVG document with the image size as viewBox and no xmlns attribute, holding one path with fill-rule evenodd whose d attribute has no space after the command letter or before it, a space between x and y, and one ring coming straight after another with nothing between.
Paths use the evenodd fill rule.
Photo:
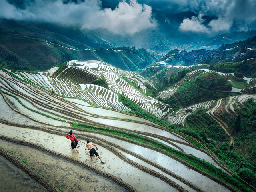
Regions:
<instances>
[{"instance_id":1,"label":"dark blue clouds with white puffs filling the upper right corner","mask_svg":"<svg viewBox=\"0 0 256 192\"><path fill-rule=\"evenodd\" d=\"M182 18L179 29L214 35L232 30L256 29L255 0L138 0L152 6L152 12L166 16L170 22L179 12L193 12L197 16ZM212 20L206 19L212 18ZM180 20L180 18L178 18ZM177 19L176 19L177 20Z\"/></svg>"}]
</instances>

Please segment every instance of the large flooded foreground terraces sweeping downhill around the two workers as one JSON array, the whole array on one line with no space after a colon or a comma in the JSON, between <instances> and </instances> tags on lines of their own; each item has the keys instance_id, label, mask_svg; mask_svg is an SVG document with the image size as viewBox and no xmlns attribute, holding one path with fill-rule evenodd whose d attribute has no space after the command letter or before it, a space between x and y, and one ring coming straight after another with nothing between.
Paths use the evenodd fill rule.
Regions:
<instances>
[{"instance_id":1,"label":"large flooded foreground terraces sweeping downhill around the two workers","mask_svg":"<svg viewBox=\"0 0 256 192\"><path fill-rule=\"evenodd\" d=\"M94 68L96 66L95 63L89 64ZM98 69L102 67L111 66L98 64ZM88 126L98 126L102 130L111 128L116 132L121 130L150 138L152 142L162 142L177 152L193 154L230 174L214 156L196 147L187 137L138 116L110 108L93 107L88 100L94 103L98 101L92 98L89 91L85 92L67 83L68 79L58 80L44 74L12 73L15 76L0 71L0 157L4 157L0 158L0 162L6 165L6 160L9 160L18 165L22 171L18 170L18 178L14 176L12 179L18 181L27 178L24 190L41 191L45 187L49 191L58 191L52 183L61 186L64 191L232 190L232 186L163 150L98 128L96 131ZM110 71L106 74L106 78L110 78L112 73ZM112 75L116 78L119 74ZM56 82L61 86L57 86ZM123 87L128 87L123 81L121 83ZM114 88L114 85L111 86ZM100 92L104 92L97 86L88 89L95 92L94 95L102 95ZM69 97L65 97L62 92ZM111 95L110 90L108 94ZM75 128L71 126L74 123L87 126L83 129ZM69 130L73 130L80 140L79 153L70 148L70 140L65 138ZM88 139L97 145L104 164L96 157L90 160L84 144ZM34 169L26 166L22 159L40 170L45 178L34 174ZM10 169L17 172L12 166L9 170L1 169L1 178ZM22 185L21 182L19 186Z\"/></svg>"}]
</instances>

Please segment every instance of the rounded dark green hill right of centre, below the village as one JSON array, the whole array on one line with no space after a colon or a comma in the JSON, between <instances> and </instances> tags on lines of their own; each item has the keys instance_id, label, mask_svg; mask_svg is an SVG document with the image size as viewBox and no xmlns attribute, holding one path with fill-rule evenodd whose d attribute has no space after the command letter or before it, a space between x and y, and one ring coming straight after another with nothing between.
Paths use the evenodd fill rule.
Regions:
<instances>
[{"instance_id":1,"label":"rounded dark green hill right of centre, below the village","mask_svg":"<svg viewBox=\"0 0 256 192\"><path fill-rule=\"evenodd\" d=\"M198 102L216 100L233 95L230 82L215 73L201 74L195 79L184 82L176 91L175 95L182 106L189 106Z\"/></svg>"}]
</instances>

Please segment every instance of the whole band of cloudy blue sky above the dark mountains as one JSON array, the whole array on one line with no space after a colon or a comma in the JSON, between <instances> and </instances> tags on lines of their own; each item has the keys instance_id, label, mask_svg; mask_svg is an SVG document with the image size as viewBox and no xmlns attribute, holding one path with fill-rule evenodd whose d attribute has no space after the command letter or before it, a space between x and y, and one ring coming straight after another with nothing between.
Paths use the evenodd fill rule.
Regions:
<instances>
[{"instance_id":1,"label":"whole band of cloudy blue sky above the dark mountains","mask_svg":"<svg viewBox=\"0 0 256 192\"><path fill-rule=\"evenodd\" d=\"M107 28L146 28L214 36L256 30L256 0L0 0L0 17Z\"/></svg>"}]
</instances>

